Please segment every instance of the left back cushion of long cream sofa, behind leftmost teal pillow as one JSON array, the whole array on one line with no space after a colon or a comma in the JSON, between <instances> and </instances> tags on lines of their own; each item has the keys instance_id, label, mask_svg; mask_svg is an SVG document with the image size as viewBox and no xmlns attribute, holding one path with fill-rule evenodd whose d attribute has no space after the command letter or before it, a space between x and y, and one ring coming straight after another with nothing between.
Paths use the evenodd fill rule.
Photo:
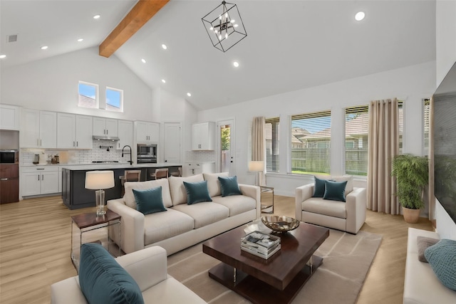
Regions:
<instances>
[{"instance_id":1,"label":"left back cushion of long cream sofa, behind leftmost teal pillow","mask_svg":"<svg viewBox=\"0 0 456 304\"><path fill-rule=\"evenodd\" d=\"M157 187L162 187L162 198L163 204L166 208L172 206L171 195L170 195L170 186L167 179L157 179L147 182L125 182L125 195L123 196L123 201L125 205L130 208L136 209L135 195L133 194L133 189L135 190L145 190L152 189Z\"/></svg>"}]
</instances>

